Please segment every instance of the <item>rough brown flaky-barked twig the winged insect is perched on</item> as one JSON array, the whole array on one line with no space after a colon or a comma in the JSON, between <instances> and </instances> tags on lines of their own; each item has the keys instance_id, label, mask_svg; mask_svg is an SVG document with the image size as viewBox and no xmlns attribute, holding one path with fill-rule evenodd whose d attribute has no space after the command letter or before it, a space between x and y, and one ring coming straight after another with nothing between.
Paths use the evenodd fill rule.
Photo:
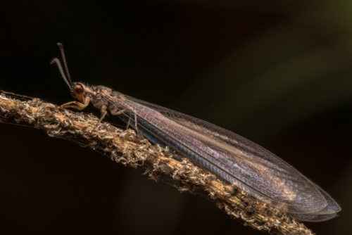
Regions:
<instances>
[{"instance_id":1,"label":"rough brown flaky-barked twig the winged insect is perched on","mask_svg":"<svg viewBox=\"0 0 352 235\"><path fill-rule=\"evenodd\" d=\"M22 122L44 129L51 137L73 139L100 150L117 163L144 167L151 179L165 179L180 191L205 195L228 215L254 229L270 234L313 234L304 224L202 170L188 159L150 144L132 129L124 131L103 122L92 132L97 121L94 115L63 110L52 103L24 97L0 92L0 122Z\"/></svg>"}]
</instances>

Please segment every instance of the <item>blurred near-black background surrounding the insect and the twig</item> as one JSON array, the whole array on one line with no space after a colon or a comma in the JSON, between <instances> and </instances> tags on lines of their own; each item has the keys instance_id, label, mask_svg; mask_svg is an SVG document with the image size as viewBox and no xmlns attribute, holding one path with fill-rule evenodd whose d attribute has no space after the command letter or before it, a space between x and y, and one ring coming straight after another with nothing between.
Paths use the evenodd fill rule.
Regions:
<instances>
[{"instance_id":1,"label":"blurred near-black background surrounding the insect and the twig","mask_svg":"<svg viewBox=\"0 0 352 235\"><path fill-rule=\"evenodd\" d=\"M348 234L351 5L7 1L0 89L71 101L49 65L62 42L73 80L213 122L287 160L343 209L334 220L306 225ZM263 234L70 141L15 125L0 124L0 131L1 234Z\"/></svg>"}]
</instances>

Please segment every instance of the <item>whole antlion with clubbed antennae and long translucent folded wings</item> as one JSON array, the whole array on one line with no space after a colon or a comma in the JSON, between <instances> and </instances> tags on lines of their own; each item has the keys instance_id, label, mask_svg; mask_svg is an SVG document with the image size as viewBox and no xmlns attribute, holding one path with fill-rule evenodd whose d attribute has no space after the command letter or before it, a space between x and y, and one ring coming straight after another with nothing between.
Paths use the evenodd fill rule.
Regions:
<instances>
[{"instance_id":1,"label":"whole antlion with clubbed antennae and long translucent folded wings","mask_svg":"<svg viewBox=\"0 0 352 235\"><path fill-rule=\"evenodd\" d=\"M242 136L108 87L72 82L63 45L58 43L58 47L65 72L58 58L51 63L56 63L71 95L77 99L64 103L61 108L82 110L92 103L101 111L99 122L108 112L118 115L153 143L169 146L203 169L284 210L296 220L329 220L341 210L334 199L294 167Z\"/></svg>"}]
</instances>

